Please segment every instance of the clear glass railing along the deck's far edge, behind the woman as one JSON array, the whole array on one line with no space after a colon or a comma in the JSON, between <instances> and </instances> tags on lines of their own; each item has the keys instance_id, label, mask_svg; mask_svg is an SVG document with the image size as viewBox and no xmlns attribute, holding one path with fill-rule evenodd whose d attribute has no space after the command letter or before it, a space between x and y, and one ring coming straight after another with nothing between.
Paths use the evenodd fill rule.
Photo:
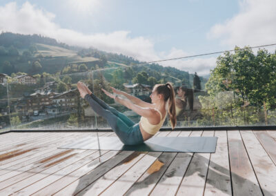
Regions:
<instances>
[{"instance_id":1,"label":"clear glass railing along the deck's far edge, behind the woman","mask_svg":"<svg viewBox=\"0 0 276 196\"><path fill-rule=\"evenodd\" d=\"M230 59L230 63L238 62ZM1 131L110 128L106 119L97 115L79 96L77 81L83 81L99 99L135 123L139 122L140 116L106 96L101 88L112 92L112 86L150 103L153 86L170 82L175 89L176 127L275 126L276 104L270 101L275 95L259 95L262 100L257 100L256 93L254 97L252 92L246 92L246 88L253 88L250 84L239 85L239 82L247 81L239 78L241 76L235 70L224 70L228 74L219 77L212 75L219 72L214 70L209 79L175 71L158 65L130 66L108 62L100 68L88 64L75 72L44 73L43 77L36 78L26 75L20 81L8 77L0 85ZM250 74L250 70L247 71ZM270 85L275 85L273 82ZM170 127L168 116L163 127Z\"/></svg>"}]
</instances>

